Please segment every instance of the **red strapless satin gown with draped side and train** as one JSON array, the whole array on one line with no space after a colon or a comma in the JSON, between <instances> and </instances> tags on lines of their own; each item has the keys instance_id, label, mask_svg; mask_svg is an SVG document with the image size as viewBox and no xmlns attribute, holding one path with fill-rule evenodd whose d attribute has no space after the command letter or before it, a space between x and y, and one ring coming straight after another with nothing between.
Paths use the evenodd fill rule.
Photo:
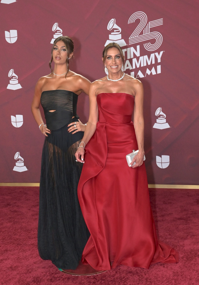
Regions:
<instances>
[{"instance_id":1,"label":"red strapless satin gown with draped side and train","mask_svg":"<svg viewBox=\"0 0 199 285\"><path fill-rule=\"evenodd\" d=\"M100 93L97 103L99 121L86 145L78 184L90 231L83 264L108 270L119 264L149 268L156 262L178 262L178 253L157 240L145 165L127 165L126 154L138 149L131 122L134 97Z\"/></svg>"}]
</instances>

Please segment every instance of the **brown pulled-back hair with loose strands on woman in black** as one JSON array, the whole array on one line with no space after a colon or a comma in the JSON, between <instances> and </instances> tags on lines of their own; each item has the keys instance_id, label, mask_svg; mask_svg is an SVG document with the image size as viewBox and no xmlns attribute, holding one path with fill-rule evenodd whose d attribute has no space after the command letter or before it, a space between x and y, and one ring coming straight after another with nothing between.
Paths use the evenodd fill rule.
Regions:
<instances>
[{"instance_id":1,"label":"brown pulled-back hair with loose strands on woman in black","mask_svg":"<svg viewBox=\"0 0 199 285\"><path fill-rule=\"evenodd\" d=\"M52 67L51 67L51 64L52 64L52 61L53 61L53 49L54 49L54 46L56 45L56 43L59 42L59 41L63 41L64 42L64 45L65 45L66 50L67 50L66 66L67 66L67 73L69 72L69 55L71 53L73 53L73 51L74 51L74 43L73 43L72 39L69 38L68 36L61 36L61 37L58 37L57 39L55 39L55 41L53 43L53 47L51 49L51 60L49 61L49 67L51 69L51 74L53 73L53 70L52 70Z\"/></svg>"}]
</instances>

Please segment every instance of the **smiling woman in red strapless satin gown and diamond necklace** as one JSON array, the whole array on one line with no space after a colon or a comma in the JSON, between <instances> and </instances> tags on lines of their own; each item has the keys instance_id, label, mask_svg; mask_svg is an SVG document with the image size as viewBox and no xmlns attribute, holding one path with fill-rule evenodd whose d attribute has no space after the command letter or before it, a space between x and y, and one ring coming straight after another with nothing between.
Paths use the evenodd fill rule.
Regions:
<instances>
[{"instance_id":1,"label":"smiling woman in red strapless satin gown and diamond necklace","mask_svg":"<svg viewBox=\"0 0 199 285\"><path fill-rule=\"evenodd\" d=\"M104 48L102 60L108 75L90 86L89 120L75 154L85 163L78 199L90 232L82 262L98 270L178 262L178 253L157 240L151 211L142 83L123 73L124 56L116 43ZM129 167L126 155L133 149L139 152Z\"/></svg>"}]
</instances>

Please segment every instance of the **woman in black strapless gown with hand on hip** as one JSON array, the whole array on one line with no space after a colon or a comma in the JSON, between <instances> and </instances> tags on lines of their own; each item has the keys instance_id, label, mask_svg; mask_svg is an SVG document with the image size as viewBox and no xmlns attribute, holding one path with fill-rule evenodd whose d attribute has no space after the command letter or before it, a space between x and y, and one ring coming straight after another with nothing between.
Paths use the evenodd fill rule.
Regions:
<instances>
[{"instance_id":1,"label":"woman in black strapless gown with hand on hip","mask_svg":"<svg viewBox=\"0 0 199 285\"><path fill-rule=\"evenodd\" d=\"M75 162L85 125L76 114L78 95L88 94L90 81L69 70L73 55L72 40L55 40L51 68L35 87L32 113L45 135L40 178L38 250L42 259L58 268L76 269L89 232L77 198L82 165ZM39 110L43 107L46 125Z\"/></svg>"}]
</instances>

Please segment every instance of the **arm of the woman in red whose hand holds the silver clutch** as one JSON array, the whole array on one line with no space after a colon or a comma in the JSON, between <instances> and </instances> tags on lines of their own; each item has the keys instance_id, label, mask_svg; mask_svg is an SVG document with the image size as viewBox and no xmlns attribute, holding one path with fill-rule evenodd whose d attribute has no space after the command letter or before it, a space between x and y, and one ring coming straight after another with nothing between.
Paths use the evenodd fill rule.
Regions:
<instances>
[{"instance_id":1,"label":"arm of the woman in red whose hand holds the silver clutch","mask_svg":"<svg viewBox=\"0 0 199 285\"><path fill-rule=\"evenodd\" d=\"M135 101L134 101L134 116L133 125L135 129L135 135L138 143L138 154L131 162L132 168L136 168L143 164L144 160L144 115L143 115L143 103L144 103L144 89L142 83L136 79L134 81Z\"/></svg>"}]
</instances>

